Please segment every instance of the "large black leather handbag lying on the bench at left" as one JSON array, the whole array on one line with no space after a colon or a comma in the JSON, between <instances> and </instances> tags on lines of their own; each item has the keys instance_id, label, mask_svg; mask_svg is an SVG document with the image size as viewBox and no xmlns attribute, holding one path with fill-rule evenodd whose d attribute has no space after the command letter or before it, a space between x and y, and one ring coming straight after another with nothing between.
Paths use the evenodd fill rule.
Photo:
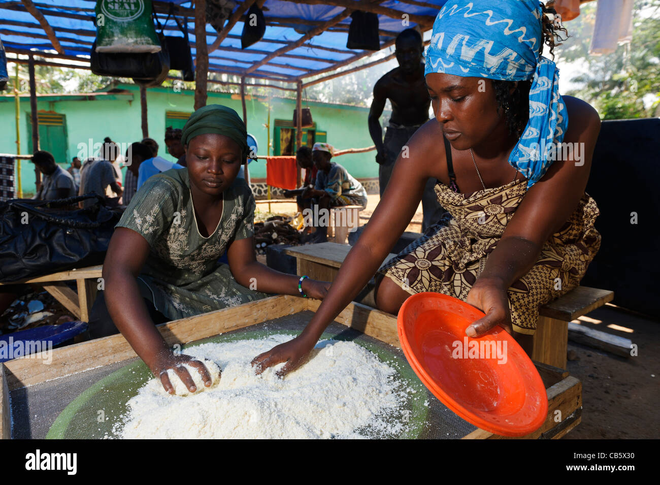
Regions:
<instances>
[{"instance_id":1,"label":"large black leather handbag lying on the bench at left","mask_svg":"<svg viewBox=\"0 0 660 485\"><path fill-rule=\"evenodd\" d=\"M96 202L86 209L66 209L86 199ZM102 264L120 217L96 194L0 204L0 282Z\"/></svg>"}]
</instances>

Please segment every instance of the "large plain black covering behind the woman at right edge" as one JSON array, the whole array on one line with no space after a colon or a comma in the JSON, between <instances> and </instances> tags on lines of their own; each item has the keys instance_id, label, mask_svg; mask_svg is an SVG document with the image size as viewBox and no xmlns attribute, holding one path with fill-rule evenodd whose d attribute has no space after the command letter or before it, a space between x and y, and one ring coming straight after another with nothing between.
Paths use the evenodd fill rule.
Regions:
<instances>
[{"instance_id":1,"label":"large plain black covering behind the woman at right edge","mask_svg":"<svg viewBox=\"0 0 660 485\"><path fill-rule=\"evenodd\" d=\"M587 193L601 210L603 242L581 284L614 291L618 306L660 316L660 118L603 121Z\"/></svg>"}]
</instances>

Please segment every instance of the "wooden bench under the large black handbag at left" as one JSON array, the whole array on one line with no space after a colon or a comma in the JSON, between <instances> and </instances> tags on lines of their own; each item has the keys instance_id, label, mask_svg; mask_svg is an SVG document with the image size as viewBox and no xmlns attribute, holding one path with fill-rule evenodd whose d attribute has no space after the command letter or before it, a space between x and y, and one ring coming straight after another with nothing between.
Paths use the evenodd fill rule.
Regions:
<instances>
[{"instance_id":1,"label":"wooden bench under the large black handbag at left","mask_svg":"<svg viewBox=\"0 0 660 485\"><path fill-rule=\"evenodd\" d=\"M49 292L55 300L60 302L66 309L73 313L73 316L82 321L89 321L89 312L96 298L96 288L98 288L98 278L101 277L103 265L90 266L81 269L70 269L60 271L51 275L28 278L26 280L15 281L5 284L30 284L41 283L44 290ZM78 286L78 293L71 290L65 283L69 280L75 280ZM0 283L2 285L3 283Z\"/></svg>"}]
</instances>

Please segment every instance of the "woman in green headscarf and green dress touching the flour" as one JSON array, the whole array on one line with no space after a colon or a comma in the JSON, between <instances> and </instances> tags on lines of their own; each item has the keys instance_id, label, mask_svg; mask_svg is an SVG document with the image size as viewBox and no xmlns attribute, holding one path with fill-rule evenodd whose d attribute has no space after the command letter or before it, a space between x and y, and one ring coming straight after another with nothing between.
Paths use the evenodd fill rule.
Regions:
<instances>
[{"instance_id":1,"label":"woman in green headscarf and green dress touching the flour","mask_svg":"<svg viewBox=\"0 0 660 485\"><path fill-rule=\"evenodd\" d=\"M172 368L189 390L194 384L183 362L154 323L191 317L265 298L299 294L300 278L257 263L253 243L255 201L236 178L248 144L243 121L225 106L194 112L183 127L187 168L153 176L137 192L110 240L103 265L105 291L90 317L94 337L126 337L163 386L172 392ZM226 251L229 265L218 263ZM306 278L302 292L323 298L326 284Z\"/></svg>"}]
</instances>

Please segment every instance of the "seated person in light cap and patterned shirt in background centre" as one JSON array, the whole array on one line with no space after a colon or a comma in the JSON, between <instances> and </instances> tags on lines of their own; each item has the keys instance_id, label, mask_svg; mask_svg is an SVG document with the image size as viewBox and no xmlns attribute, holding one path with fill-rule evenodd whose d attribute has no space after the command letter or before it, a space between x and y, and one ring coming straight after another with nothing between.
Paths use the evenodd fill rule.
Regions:
<instances>
[{"instance_id":1,"label":"seated person in light cap and patterned shirt in background centre","mask_svg":"<svg viewBox=\"0 0 660 485\"><path fill-rule=\"evenodd\" d=\"M360 205L362 209L367 207L366 190L343 166L330 161L333 152L334 148L328 143L314 143L312 148L312 159L319 172L316 175L314 189L306 189L302 197L315 197L319 202L311 221L316 232L311 234L310 238L304 238L304 242L327 241L331 207L342 205Z\"/></svg>"}]
</instances>

